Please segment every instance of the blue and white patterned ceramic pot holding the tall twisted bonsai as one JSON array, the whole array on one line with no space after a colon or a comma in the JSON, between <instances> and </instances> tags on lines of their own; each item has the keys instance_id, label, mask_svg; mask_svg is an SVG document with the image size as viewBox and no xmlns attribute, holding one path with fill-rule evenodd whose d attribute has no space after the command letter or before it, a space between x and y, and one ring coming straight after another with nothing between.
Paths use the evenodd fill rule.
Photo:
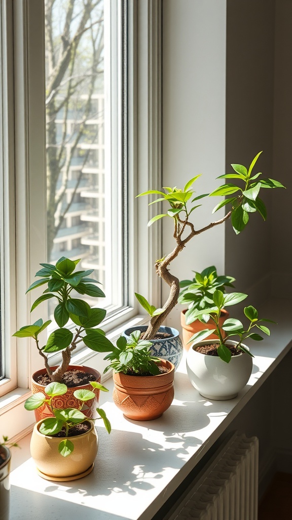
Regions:
<instances>
[{"instance_id":1,"label":"blue and white patterned ceramic pot holding the tall twisted bonsai","mask_svg":"<svg viewBox=\"0 0 292 520\"><path fill-rule=\"evenodd\" d=\"M123 336L128 338L131 332L134 332L135 330L144 332L147 330L147 325L129 327L123 332ZM165 332L171 336L160 340L150 340L152 343L152 354L153 356L157 356L161 359L171 361L171 363L174 363L176 370L179 366L183 353L182 341L179 337L179 331L177 329L173 329L172 327L161 326L158 329L158 332Z\"/></svg>"}]
</instances>

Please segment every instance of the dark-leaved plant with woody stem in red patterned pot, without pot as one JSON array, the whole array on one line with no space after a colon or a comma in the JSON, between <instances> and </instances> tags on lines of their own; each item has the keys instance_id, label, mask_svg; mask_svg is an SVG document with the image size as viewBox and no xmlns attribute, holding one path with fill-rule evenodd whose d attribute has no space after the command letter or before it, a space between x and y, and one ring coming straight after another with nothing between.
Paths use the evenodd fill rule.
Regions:
<instances>
[{"instance_id":1,"label":"dark-leaved plant with woody stem in red patterned pot, without pot","mask_svg":"<svg viewBox=\"0 0 292 520\"><path fill-rule=\"evenodd\" d=\"M81 341L92 350L97 350L97 345L107 347L108 351L112 348L112 343L105 337L104 332L96 327L102 322L107 311L99 308L90 308L88 303L79 298L71 296L72 291L79 294L86 294L96 298L104 297L102 290L97 287L97 280L89 278L94 269L87 271L76 271L76 265L80 260L72 261L62 257L56 265L41 264L42 269L37 271L40 280L33 282L26 292L29 292L41 285L45 285L42 296L39 296L32 305L33 311L40 303L56 298L58 305L54 311L54 318L59 328L54 330L46 342L46 345L39 345L39 334L45 330L51 320L43 322L42 319L35 321L32 325L21 327L15 332L16 337L32 337L36 343L38 353L43 357L45 368L51 381L62 382L64 373L68 370L71 355L77 344ZM70 329L64 328L65 324L71 319L75 324L75 333ZM55 371L52 371L47 355L62 351L62 363Z\"/></svg>"}]
</instances>

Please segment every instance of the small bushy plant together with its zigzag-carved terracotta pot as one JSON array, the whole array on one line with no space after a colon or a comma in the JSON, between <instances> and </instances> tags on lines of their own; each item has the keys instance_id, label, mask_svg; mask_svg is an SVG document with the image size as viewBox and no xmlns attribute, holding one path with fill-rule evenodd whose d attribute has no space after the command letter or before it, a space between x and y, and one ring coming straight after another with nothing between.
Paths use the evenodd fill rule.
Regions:
<instances>
[{"instance_id":1,"label":"small bushy plant together with its zigzag-carved terracotta pot","mask_svg":"<svg viewBox=\"0 0 292 520\"><path fill-rule=\"evenodd\" d=\"M113 369L113 400L125 417L149 421L160 417L174 399L175 366L153 356L150 341L140 339L141 332L132 332L128 340L121 336L116 347L104 359ZM100 347L100 352L107 352Z\"/></svg>"}]
</instances>

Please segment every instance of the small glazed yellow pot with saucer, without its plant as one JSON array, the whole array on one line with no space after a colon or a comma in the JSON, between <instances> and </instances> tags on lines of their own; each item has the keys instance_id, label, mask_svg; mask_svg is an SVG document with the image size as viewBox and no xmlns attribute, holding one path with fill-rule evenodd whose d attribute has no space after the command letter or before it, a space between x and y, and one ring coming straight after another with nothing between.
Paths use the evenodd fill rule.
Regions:
<instances>
[{"instance_id":1,"label":"small glazed yellow pot with saucer, without its plant","mask_svg":"<svg viewBox=\"0 0 292 520\"><path fill-rule=\"evenodd\" d=\"M90 430L82 435L68 437L74 444L74 450L68 457L63 457L58 446L65 437L50 437L39 433L38 421L33 428L31 438L31 456L38 474L47 480L75 480L85 477L94 467L98 450L98 438L91 423Z\"/></svg>"}]
</instances>

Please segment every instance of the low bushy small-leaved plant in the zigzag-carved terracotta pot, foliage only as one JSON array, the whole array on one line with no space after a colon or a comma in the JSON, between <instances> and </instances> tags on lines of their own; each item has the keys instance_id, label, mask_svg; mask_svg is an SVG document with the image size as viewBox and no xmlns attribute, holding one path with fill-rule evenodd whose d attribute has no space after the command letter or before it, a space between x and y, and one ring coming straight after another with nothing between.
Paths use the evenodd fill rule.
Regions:
<instances>
[{"instance_id":1,"label":"low bushy small-leaved plant in the zigzag-carved terracotta pot, foliage only","mask_svg":"<svg viewBox=\"0 0 292 520\"><path fill-rule=\"evenodd\" d=\"M124 372L128 375L157 375L160 369L157 363L160 358L151 354L152 343L150 341L140 339L141 332L136 330L132 332L128 339L120 336L116 342L116 346L111 352L104 357L110 360L110 365L104 369L104 373L110 369L116 372ZM99 346L99 352L108 352L102 346Z\"/></svg>"}]
</instances>

